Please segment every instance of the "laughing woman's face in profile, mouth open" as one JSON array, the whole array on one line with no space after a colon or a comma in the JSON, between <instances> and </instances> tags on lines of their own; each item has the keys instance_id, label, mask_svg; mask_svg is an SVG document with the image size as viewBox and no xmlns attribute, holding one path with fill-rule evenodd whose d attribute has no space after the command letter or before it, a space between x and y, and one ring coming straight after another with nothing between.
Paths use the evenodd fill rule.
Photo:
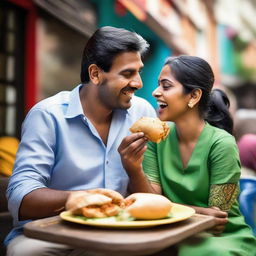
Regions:
<instances>
[{"instance_id":1,"label":"laughing woman's face in profile, mouth open","mask_svg":"<svg viewBox=\"0 0 256 256\"><path fill-rule=\"evenodd\" d=\"M162 121L177 121L188 113L190 94L184 94L183 86L171 74L169 65L161 70L158 87L152 95L157 99L159 118Z\"/></svg>"}]
</instances>

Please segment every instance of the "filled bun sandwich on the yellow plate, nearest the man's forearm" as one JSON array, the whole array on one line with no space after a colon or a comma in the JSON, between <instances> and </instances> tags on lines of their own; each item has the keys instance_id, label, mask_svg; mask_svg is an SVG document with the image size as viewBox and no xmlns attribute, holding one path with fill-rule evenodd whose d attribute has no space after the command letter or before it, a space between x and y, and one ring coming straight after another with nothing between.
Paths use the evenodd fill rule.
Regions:
<instances>
[{"instance_id":1,"label":"filled bun sandwich on the yellow plate, nearest the man's forearm","mask_svg":"<svg viewBox=\"0 0 256 256\"><path fill-rule=\"evenodd\" d=\"M119 214L124 208L124 198L110 189L92 189L72 192L65 208L74 215L87 218L105 218Z\"/></svg>"}]
</instances>

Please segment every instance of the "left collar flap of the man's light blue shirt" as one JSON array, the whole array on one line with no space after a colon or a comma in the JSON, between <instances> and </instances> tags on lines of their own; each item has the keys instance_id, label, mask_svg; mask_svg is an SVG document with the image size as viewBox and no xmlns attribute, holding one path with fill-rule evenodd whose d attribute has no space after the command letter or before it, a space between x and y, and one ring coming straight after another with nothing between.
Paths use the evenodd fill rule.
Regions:
<instances>
[{"instance_id":1,"label":"left collar flap of the man's light blue shirt","mask_svg":"<svg viewBox=\"0 0 256 256\"><path fill-rule=\"evenodd\" d=\"M70 92L67 112L65 115L66 118L73 118L79 115L84 115L79 95L82 86L82 84L79 84Z\"/></svg>"}]
</instances>

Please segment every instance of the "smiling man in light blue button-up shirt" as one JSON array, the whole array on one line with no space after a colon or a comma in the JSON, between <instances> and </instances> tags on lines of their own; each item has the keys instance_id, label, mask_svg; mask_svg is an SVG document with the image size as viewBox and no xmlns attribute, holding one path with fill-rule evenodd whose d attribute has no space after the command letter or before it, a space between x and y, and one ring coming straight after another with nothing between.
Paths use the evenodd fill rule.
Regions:
<instances>
[{"instance_id":1,"label":"smiling man in light blue button-up shirt","mask_svg":"<svg viewBox=\"0 0 256 256\"><path fill-rule=\"evenodd\" d=\"M67 246L26 238L22 225L59 214L74 190L127 193L129 179L118 146L137 119L155 116L149 103L134 96L142 87L141 55L147 49L134 32L98 29L84 49L82 84L30 110L7 190L15 226L6 239L7 255L40 256L49 247L49 255L68 255ZM143 133L130 135L129 141L145 148Z\"/></svg>"}]
</instances>

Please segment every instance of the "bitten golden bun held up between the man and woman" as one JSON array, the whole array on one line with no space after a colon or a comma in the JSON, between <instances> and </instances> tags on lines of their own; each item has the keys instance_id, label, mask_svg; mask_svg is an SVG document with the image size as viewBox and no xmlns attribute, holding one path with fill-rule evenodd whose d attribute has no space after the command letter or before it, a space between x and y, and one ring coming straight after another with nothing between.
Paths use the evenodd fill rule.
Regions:
<instances>
[{"instance_id":1,"label":"bitten golden bun held up between the man and woman","mask_svg":"<svg viewBox=\"0 0 256 256\"><path fill-rule=\"evenodd\" d=\"M159 143L168 136L170 128L167 122L163 122L159 118L142 117L132 125L130 131L133 133L143 132L147 139Z\"/></svg>"}]
</instances>

